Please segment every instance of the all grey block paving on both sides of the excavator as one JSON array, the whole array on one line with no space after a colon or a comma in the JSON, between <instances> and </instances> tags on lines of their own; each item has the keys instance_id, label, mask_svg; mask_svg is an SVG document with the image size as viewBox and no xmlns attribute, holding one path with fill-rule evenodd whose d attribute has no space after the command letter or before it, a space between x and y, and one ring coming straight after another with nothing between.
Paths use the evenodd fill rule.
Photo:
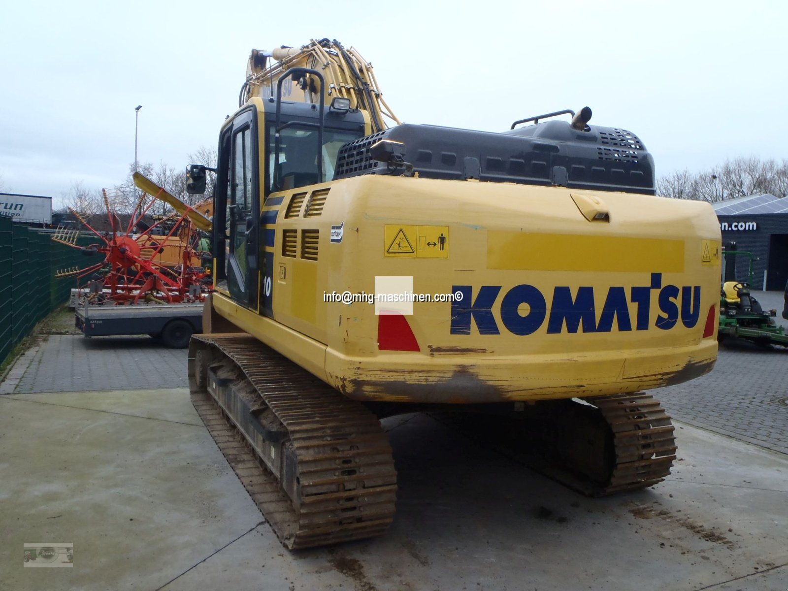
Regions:
<instances>
[{"instance_id":1,"label":"all grey block paving on both sides of the excavator","mask_svg":"<svg viewBox=\"0 0 788 591\"><path fill-rule=\"evenodd\" d=\"M782 292L753 296L764 310L776 308L775 320L788 328ZM184 388L186 361L186 349L147 336L50 335L17 362L0 394ZM788 348L727 341L710 374L654 395L679 421L788 453Z\"/></svg>"}]
</instances>

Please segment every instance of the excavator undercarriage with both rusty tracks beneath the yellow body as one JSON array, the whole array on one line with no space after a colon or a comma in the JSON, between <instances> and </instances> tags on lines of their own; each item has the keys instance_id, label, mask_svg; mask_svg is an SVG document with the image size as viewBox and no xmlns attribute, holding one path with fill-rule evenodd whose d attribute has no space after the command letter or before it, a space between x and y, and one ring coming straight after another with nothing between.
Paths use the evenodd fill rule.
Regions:
<instances>
[{"instance_id":1,"label":"excavator undercarriage with both rusty tracks beneath the yellow body","mask_svg":"<svg viewBox=\"0 0 788 591\"><path fill-rule=\"evenodd\" d=\"M287 548L374 537L395 513L379 418L426 411L587 496L655 485L675 459L671 418L643 392L485 405L365 405L243 333L194 336L191 400Z\"/></svg>"}]
</instances>

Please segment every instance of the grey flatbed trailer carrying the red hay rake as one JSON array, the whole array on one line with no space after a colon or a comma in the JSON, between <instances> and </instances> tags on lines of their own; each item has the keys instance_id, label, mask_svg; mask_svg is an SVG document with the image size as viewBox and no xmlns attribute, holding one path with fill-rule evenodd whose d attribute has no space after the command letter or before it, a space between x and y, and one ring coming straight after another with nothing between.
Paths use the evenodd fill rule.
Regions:
<instances>
[{"instance_id":1,"label":"grey flatbed trailer carrying the red hay rake","mask_svg":"<svg viewBox=\"0 0 788 591\"><path fill-rule=\"evenodd\" d=\"M76 309L76 328L86 337L147 334L171 348L185 348L203 332L203 303L142 303L125 306L84 304Z\"/></svg>"}]
</instances>

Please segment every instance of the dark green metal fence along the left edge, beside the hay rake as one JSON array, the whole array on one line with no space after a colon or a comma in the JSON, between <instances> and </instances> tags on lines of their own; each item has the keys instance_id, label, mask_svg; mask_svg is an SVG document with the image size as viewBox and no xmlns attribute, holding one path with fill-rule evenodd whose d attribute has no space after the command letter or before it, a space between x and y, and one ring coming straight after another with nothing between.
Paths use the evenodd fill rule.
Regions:
<instances>
[{"instance_id":1,"label":"dark green metal fence along the left edge, beside the hay rake","mask_svg":"<svg viewBox=\"0 0 788 591\"><path fill-rule=\"evenodd\" d=\"M0 216L0 363L38 322L68 301L76 278L58 279L55 273L93 262L50 236Z\"/></svg>"}]
</instances>

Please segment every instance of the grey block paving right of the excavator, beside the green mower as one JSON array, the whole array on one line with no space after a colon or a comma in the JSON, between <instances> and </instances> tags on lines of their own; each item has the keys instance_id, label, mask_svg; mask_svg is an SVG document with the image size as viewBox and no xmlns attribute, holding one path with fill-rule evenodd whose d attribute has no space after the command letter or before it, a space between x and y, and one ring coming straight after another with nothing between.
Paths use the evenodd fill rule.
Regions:
<instances>
[{"instance_id":1,"label":"grey block paving right of the excavator, beside the green mower","mask_svg":"<svg viewBox=\"0 0 788 591\"><path fill-rule=\"evenodd\" d=\"M781 318L782 292L753 292ZM679 421L788 454L788 348L727 340L711 373L654 396Z\"/></svg>"}]
</instances>

